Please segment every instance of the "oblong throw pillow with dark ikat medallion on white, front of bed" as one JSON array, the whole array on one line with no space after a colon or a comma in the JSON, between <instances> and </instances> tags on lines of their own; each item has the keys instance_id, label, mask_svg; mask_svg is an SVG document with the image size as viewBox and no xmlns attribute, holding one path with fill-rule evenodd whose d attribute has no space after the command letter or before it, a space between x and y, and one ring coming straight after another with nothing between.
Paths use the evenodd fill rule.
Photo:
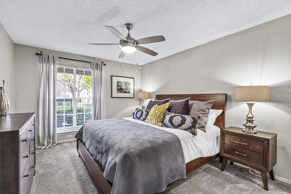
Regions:
<instances>
[{"instance_id":1,"label":"oblong throw pillow with dark ikat medallion on white, front of bed","mask_svg":"<svg viewBox=\"0 0 291 194\"><path fill-rule=\"evenodd\" d=\"M190 116L183 114L166 113L162 122L162 127L186 130L196 136L200 118L200 115Z\"/></svg>"}]
</instances>

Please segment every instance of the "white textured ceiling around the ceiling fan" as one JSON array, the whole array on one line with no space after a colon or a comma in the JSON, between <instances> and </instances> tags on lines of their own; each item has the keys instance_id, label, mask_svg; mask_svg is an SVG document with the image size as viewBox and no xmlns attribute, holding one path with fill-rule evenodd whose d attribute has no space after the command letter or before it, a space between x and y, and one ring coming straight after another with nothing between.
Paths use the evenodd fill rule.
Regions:
<instances>
[{"instance_id":1,"label":"white textured ceiling around the ceiling fan","mask_svg":"<svg viewBox=\"0 0 291 194\"><path fill-rule=\"evenodd\" d=\"M105 29L125 36L164 35L166 41L143 45L121 62L143 65L211 40L291 14L291 0L1 0L0 22L15 43L119 61L119 43ZM138 57L138 58L137 58Z\"/></svg>"}]
</instances>

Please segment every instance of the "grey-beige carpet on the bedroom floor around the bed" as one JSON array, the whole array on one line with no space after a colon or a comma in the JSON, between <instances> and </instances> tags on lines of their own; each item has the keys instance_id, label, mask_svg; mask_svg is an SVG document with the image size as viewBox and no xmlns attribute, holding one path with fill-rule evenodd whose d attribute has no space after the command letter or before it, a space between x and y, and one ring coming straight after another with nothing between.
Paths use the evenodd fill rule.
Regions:
<instances>
[{"instance_id":1,"label":"grey-beige carpet on the bedroom floor around the bed","mask_svg":"<svg viewBox=\"0 0 291 194\"><path fill-rule=\"evenodd\" d=\"M268 179L269 192L261 178L248 169L210 162L187 178L169 184L161 194L291 194L291 185ZM275 172L276 174L276 172ZM99 194L76 151L76 142L36 150L36 173L30 194Z\"/></svg>"}]
</instances>

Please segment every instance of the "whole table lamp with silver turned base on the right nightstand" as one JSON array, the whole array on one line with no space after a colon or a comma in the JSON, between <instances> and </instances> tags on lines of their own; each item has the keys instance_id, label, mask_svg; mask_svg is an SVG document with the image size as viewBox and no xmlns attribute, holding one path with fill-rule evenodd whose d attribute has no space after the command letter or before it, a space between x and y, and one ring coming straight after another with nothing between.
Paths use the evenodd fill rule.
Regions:
<instances>
[{"instance_id":1,"label":"whole table lamp with silver turned base on the right nightstand","mask_svg":"<svg viewBox=\"0 0 291 194\"><path fill-rule=\"evenodd\" d=\"M238 86L235 87L235 100L236 101L248 101L246 104L249 107L249 113L246 115L246 123L242 124L245 129L242 129L246 133L257 133L254 130L257 125L254 124L254 115L252 114L252 108L254 102L268 102L269 101L269 86Z\"/></svg>"}]
</instances>

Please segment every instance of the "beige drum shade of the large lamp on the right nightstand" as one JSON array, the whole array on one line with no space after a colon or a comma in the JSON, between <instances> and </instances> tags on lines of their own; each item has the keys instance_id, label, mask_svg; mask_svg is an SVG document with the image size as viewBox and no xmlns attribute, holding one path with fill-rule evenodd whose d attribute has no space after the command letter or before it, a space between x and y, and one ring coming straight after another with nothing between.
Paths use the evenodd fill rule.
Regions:
<instances>
[{"instance_id":1,"label":"beige drum shade of the large lamp on the right nightstand","mask_svg":"<svg viewBox=\"0 0 291 194\"><path fill-rule=\"evenodd\" d=\"M267 85L235 87L236 101L268 102L270 87Z\"/></svg>"}]
</instances>

